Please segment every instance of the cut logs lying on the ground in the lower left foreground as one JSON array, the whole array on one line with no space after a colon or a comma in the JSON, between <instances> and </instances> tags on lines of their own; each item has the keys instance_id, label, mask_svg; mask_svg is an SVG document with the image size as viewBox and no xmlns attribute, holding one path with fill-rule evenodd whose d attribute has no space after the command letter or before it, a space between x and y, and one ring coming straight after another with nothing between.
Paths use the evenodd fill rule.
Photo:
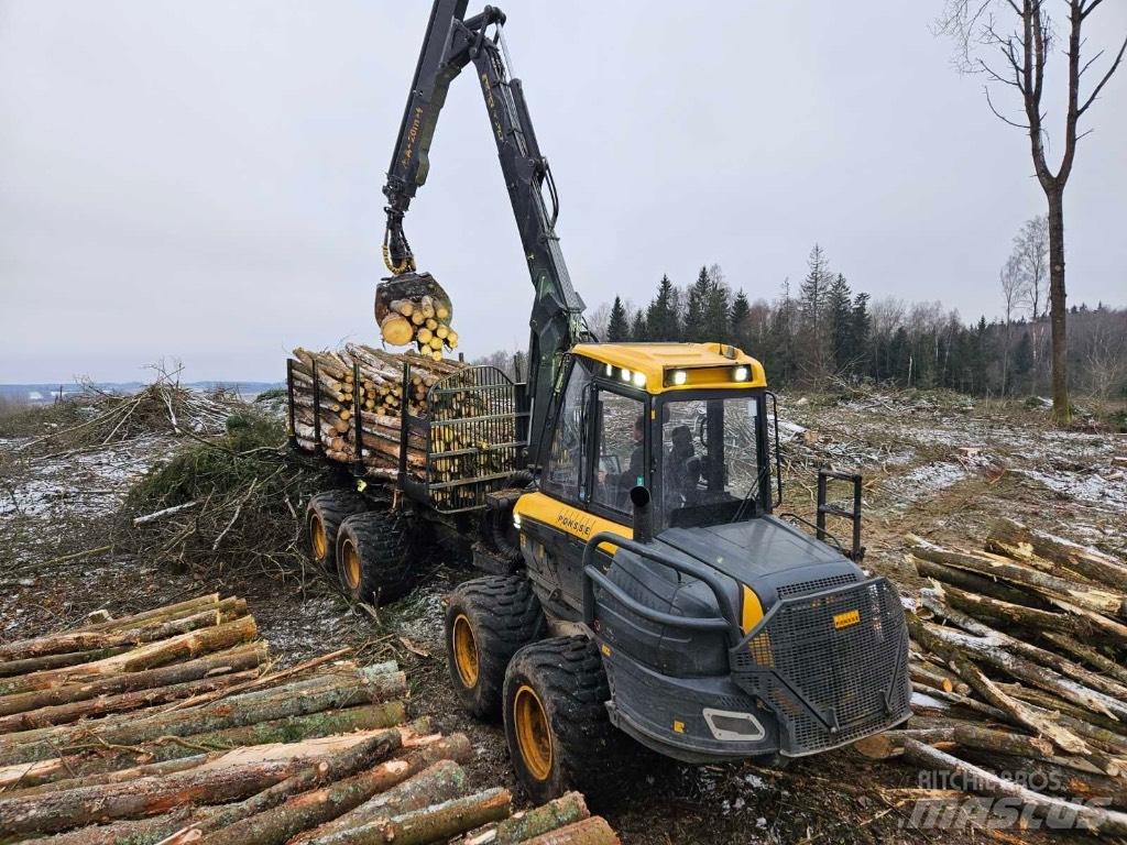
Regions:
<instances>
[{"instance_id":1,"label":"cut logs lying on the ground in the lower left foreground","mask_svg":"<svg viewBox=\"0 0 1127 845\"><path fill-rule=\"evenodd\" d=\"M218 595L0 646L0 839L609 845L582 795L514 812L461 733L406 722L393 662L272 669Z\"/></svg>"}]
</instances>

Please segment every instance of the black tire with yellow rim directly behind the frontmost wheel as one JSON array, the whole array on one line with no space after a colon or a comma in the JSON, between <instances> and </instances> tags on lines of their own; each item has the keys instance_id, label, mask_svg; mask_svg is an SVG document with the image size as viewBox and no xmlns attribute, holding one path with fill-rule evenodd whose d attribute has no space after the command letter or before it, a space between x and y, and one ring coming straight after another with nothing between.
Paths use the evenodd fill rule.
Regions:
<instances>
[{"instance_id":1,"label":"black tire with yellow rim directly behind the frontmost wheel","mask_svg":"<svg viewBox=\"0 0 1127 845\"><path fill-rule=\"evenodd\" d=\"M450 594L446 665L462 706L478 719L502 714L508 661L548 630L540 599L523 575L474 578Z\"/></svg>"}]
</instances>

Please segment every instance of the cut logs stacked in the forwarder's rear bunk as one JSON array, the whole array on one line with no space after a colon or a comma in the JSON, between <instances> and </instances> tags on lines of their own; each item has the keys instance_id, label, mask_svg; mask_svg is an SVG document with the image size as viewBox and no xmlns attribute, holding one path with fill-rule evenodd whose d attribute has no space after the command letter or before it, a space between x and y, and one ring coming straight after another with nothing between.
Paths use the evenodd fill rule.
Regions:
<instances>
[{"instance_id":1,"label":"cut logs stacked in the forwarder's rear bunk","mask_svg":"<svg viewBox=\"0 0 1127 845\"><path fill-rule=\"evenodd\" d=\"M406 384L405 365L410 373ZM436 504L471 505L477 492L460 489L456 482L512 472L520 444L515 400L505 385L474 390L472 375L467 375L464 382L447 381L431 398L431 389L441 380L460 373L472 371L461 363L360 344L346 344L338 352L294 349L290 381L296 443L334 461L355 463L360 428L365 471L394 478L403 416L410 415L426 425L408 427L407 471L427 483L446 486L433 492ZM429 466L427 433L435 459Z\"/></svg>"}]
</instances>

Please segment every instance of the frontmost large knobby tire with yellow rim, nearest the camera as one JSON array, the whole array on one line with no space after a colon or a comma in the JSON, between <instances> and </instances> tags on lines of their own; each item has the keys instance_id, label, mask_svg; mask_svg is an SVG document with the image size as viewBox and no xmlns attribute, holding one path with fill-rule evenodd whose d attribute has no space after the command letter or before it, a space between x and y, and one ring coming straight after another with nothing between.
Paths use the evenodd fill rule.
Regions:
<instances>
[{"instance_id":1,"label":"frontmost large knobby tire with yellow rim, nearest the camera","mask_svg":"<svg viewBox=\"0 0 1127 845\"><path fill-rule=\"evenodd\" d=\"M611 724L610 697L598 648L586 637L541 640L514 655L505 675L505 739L533 803L571 789L593 806L622 795L645 755Z\"/></svg>"}]
</instances>

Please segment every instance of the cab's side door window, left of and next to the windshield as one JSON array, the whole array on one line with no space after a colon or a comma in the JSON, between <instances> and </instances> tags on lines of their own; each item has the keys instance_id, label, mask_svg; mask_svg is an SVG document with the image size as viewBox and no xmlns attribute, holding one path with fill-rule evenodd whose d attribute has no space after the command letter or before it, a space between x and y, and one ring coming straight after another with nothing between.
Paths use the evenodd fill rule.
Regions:
<instances>
[{"instance_id":1,"label":"cab's side door window, left of and next to the windshield","mask_svg":"<svg viewBox=\"0 0 1127 845\"><path fill-rule=\"evenodd\" d=\"M630 489L646 483L646 406L632 397L600 390L595 406L596 505L630 512Z\"/></svg>"}]
</instances>

